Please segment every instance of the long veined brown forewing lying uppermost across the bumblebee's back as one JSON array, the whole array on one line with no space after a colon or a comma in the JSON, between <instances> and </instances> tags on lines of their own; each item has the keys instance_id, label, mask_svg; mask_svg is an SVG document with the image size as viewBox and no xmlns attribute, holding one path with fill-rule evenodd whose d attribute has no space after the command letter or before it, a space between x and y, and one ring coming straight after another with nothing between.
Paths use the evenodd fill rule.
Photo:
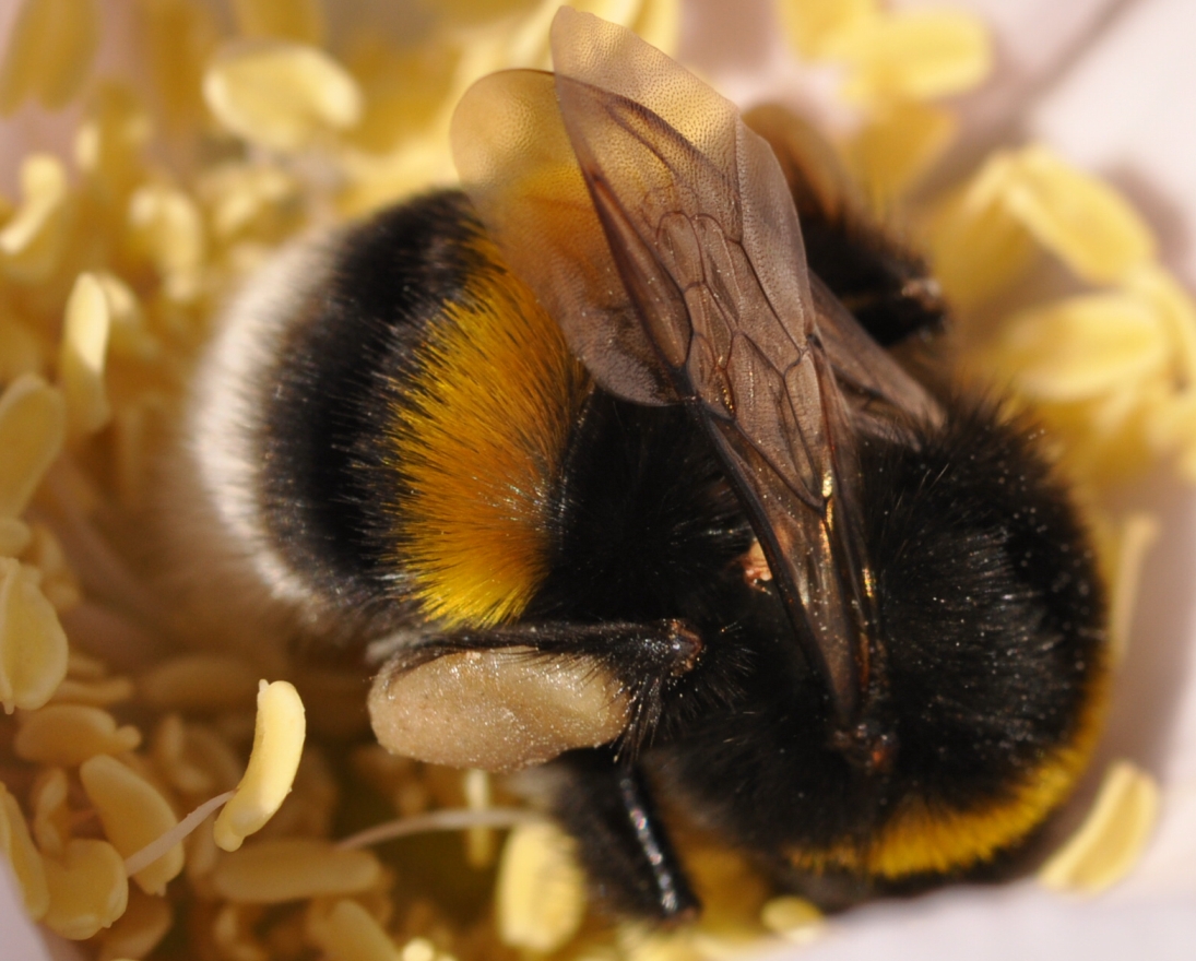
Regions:
<instances>
[{"instance_id":1,"label":"long veined brown forewing lying uppermost across the bumblebee's back","mask_svg":"<svg viewBox=\"0 0 1196 961\"><path fill-rule=\"evenodd\" d=\"M611 30L570 11L554 22L566 131L648 339L708 429L846 723L867 684L871 620L856 433L818 337L785 177L733 105L704 85L695 93L672 61L629 55L640 42L627 33L621 65L593 56ZM683 79L661 79L665 66ZM698 98L679 111L685 134L654 109L672 110L673 91Z\"/></svg>"}]
</instances>

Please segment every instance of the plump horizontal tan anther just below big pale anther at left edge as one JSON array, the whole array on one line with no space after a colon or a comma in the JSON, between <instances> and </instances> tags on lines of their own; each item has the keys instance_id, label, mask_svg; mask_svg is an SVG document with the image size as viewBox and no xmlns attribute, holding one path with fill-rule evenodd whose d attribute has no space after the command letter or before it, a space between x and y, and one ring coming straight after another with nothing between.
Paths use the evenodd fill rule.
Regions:
<instances>
[{"instance_id":1,"label":"plump horizontal tan anther just below big pale anther at left edge","mask_svg":"<svg viewBox=\"0 0 1196 961\"><path fill-rule=\"evenodd\" d=\"M20 717L13 751L25 760L73 767L97 754L122 754L140 743L140 732L130 724L117 727L108 711L50 704Z\"/></svg>"}]
</instances>

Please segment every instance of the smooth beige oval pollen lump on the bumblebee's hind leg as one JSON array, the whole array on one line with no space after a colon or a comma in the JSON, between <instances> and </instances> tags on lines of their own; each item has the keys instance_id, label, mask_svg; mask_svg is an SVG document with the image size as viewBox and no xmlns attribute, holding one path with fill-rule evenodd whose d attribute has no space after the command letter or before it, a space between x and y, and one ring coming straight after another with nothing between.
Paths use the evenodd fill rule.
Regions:
<instances>
[{"instance_id":1,"label":"smooth beige oval pollen lump on the bumblebee's hind leg","mask_svg":"<svg viewBox=\"0 0 1196 961\"><path fill-rule=\"evenodd\" d=\"M495 773L609 743L631 716L622 686L591 659L537 656L530 648L384 668L368 708L378 742L392 754Z\"/></svg>"}]
</instances>

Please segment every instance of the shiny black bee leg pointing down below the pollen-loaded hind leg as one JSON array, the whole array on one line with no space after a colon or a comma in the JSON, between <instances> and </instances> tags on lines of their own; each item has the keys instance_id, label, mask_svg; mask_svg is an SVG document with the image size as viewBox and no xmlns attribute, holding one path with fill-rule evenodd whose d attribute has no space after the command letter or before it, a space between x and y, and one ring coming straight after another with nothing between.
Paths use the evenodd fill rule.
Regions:
<instances>
[{"instance_id":1,"label":"shiny black bee leg pointing down below the pollen-loaded hind leg","mask_svg":"<svg viewBox=\"0 0 1196 961\"><path fill-rule=\"evenodd\" d=\"M616 911L676 923L695 918L690 887L643 775L604 751L574 751L553 764L556 818L578 841L600 900Z\"/></svg>"}]
</instances>

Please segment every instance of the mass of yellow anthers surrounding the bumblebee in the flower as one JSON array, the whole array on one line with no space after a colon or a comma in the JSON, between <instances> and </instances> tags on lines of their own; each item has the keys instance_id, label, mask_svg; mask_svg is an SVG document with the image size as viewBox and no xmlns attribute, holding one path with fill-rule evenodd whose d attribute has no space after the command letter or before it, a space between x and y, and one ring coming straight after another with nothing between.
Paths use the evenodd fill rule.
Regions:
<instances>
[{"instance_id":1,"label":"mass of yellow anthers surrounding the bumblebee in the flower","mask_svg":"<svg viewBox=\"0 0 1196 961\"><path fill-rule=\"evenodd\" d=\"M450 180L445 129L459 93L493 69L547 66L555 0L484 6L453 5L408 47L380 31L327 47L319 0L233 0L231 26L201 0L138 0L138 56L122 57L120 76L94 75L97 51L118 45L98 0L25 0L16 19L0 112L24 111L33 130L33 114L66 110L78 126L66 155L29 154L20 197L0 200L0 850L29 916L104 961L312 950L433 961L566 945L578 957L707 959L817 930L808 905L771 896L734 855L698 849L695 874L721 892L701 925L611 936L584 924L580 874L544 822L508 834L494 912L454 920L470 912L433 904L425 883L450 847L395 868L334 841L332 825L385 820L386 808L483 809L487 777L377 747L342 752L352 742L319 718L304 746L295 688L258 686L292 667L171 651L157 631L169 618L120 559L136 555L148 460L225 293L312 222ZM587 7L676 45L675 0ZM879 204L902 206L953 134L933 102L989 69L983 26L962 13L890 14L879 0L781 11L798 51L844 78L859 117L843 142L849 165ZM1196 476L1196 311L1122 198L1032 145L911 210L960 307L963 349L1056 429L1081 483L1099 490L1117 465L1161 457ZM982 324L982 306L1042 251L1090 289ZM1151 525L1106 524L1122 638ZM321 696L329 717L334 693ZM379 810L349 810L366 794ZM1111 883L1148 833L1154 798L1145 775L1115 765L1043 880ZM484 821L468 833L462 871L495 861Z\"/></svg>"}]
</instances>

